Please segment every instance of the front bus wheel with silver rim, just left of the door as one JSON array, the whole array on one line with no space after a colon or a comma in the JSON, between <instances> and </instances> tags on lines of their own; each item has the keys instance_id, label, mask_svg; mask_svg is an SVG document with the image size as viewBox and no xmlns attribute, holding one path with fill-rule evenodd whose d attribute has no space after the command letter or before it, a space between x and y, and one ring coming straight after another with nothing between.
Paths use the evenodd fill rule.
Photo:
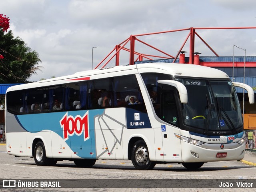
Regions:
<instances>
[{"instance_id":1,"label":"front bus wheel with silver rim, just left of the door","mask_svg":"<svg viewBox=\"0 0 256 192\"><path fill-rule=\"evenodd\" d=\"M148 147L143 140L135 142L131 153L132 164L138 170L151 170L156 162L150 161Z\"/></svg>"}]
</instances>

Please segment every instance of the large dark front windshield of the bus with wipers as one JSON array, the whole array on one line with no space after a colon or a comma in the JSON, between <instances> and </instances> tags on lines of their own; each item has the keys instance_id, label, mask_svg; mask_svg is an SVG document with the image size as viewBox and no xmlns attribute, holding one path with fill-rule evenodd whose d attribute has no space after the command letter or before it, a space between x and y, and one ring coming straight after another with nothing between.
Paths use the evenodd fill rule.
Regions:
<instances>
[{"instance_id":1,"label":"large dark front windshield of the bus with wipers","mask_svg":"<svg viewBox=\"0 0 256 192\"><path fill-rule=\"evenodd\" d=\"M182 109L186 126L198 128L198 132L203 131L204 134L240 132L243 125L242 114L230 80L175 80L184 84L188 91L188 103Z\"/></svg>"}]
</instances>

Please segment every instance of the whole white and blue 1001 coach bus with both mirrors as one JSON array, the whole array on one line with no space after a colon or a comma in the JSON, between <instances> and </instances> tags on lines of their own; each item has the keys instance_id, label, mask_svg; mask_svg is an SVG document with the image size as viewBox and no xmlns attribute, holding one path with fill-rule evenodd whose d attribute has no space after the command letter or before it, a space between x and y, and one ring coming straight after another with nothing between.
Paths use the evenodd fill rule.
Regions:
<instances>
[{"instance_id":1,"label":"whole white and blue 1001 coach bus with both mirrors","mask_svg":"<svg viewBox=\"0 0 256 192\"><path fill-rule=\"evenodd\" d=\"M39 166L60 160L93 166L97 159L200 168L241 160L245 142L235 83L214 68L137 64L78 72L8 88L8 154Z\"/></svg>"}]
</instances>

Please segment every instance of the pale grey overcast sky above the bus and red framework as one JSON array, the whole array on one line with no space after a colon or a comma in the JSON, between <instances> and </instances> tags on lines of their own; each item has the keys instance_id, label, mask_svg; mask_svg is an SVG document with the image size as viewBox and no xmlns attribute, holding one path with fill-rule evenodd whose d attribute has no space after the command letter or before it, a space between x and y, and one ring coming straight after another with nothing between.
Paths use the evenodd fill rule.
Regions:
<instances>
[{"instance_id":1,"label":"pale grey overcast sky above the bus and red framework","mask_svg":"<svg viewBox=\"0 0 256 192\"><path fill-rule=\"evenodd\" d=\"M0 0L0 14L10 30L38 52L38 81L95 67L116 44L130 35L190 27L256 26L256 0ZM176 55L189 31L142 36L140 40ZM219 56L233 56L233 44L256 56L256 29L196 30ZM128 48L129 46L127 46ZM156 54L136 42L135 50ZM183 50L189 52L189 40ZM214 54L196 38L200 56ZM244 51L235 49L235 56ZM188 53L186 56L189 56ZM128 54L120 53L120 65ZM113 66L114 60L108 66Z\"/></svg>"}]
</instances>

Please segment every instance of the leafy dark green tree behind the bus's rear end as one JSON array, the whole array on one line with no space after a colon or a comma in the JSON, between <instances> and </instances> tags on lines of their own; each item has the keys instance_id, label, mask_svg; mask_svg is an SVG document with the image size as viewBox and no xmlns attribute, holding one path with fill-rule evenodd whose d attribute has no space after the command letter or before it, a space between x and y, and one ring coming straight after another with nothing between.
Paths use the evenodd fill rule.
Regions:
<instances>
[{"instance_id":1,"label":"leafy dark green tree behind the bus's rear end","mask_svg":"<svg viewBox=\"0 0 256 192\"><path fill-rule=\"evenodd\" d=\"M12 31L4 34L0 30L0 84L27 83L32 74L36 74L42 66L39 55L31 51L19 37L14 38Z\"/></svg>"}]
</instances>

